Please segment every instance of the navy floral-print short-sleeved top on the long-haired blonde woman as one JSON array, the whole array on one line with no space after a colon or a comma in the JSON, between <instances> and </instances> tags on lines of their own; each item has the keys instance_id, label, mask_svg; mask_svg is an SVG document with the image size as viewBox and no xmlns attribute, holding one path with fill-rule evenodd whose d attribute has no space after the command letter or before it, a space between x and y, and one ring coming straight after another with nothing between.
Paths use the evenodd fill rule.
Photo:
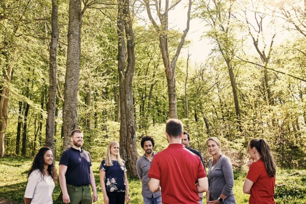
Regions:
<instances>
[{"instance_id":1,"label":"navy floral-print short-sleeved top on the long-haired blonde woman","mask_svg":"<svg viewBox=\"0 0 306 204\"><path fill-rule=\"evenodd\" d=\"M113 160L113 166L106 166L105 160L101 162L100 170L105 171L105 188L108 192L124 192L125 164L120 166L118 161Z\"/></svg>"}]
</instances>

